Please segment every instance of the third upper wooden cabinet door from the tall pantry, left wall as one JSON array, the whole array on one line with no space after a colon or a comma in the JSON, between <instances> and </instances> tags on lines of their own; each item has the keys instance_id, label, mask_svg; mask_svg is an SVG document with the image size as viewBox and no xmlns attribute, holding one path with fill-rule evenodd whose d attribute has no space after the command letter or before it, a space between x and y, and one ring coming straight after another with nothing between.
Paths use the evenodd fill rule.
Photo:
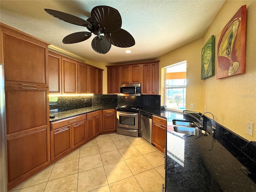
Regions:
<instances>
[{"instance_id":1,"label":"third upper wooden cabinet door from the tall pantry, left wall","mask_svg":"<svg viewBox=\"0 0 256 192\"><path fill-rule=\"evenodd\" d=\"M88 93L88 66L78 62L78 93Z\"/></svg>"}]
</instances>

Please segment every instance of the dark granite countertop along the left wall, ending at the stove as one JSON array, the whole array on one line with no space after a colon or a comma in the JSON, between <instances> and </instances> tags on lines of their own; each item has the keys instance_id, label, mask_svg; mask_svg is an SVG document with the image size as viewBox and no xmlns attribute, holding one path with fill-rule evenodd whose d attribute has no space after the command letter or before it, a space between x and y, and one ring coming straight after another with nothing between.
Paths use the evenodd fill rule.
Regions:
<instances>
[{"instance_id":1,"label":"dark granite countertop along the left wall, ending at the stove","mask_svg":"<svg viewBox=\"0 0 256 192\"><path fill-rule=\"evenodd\" d=\"M85 107L85 108L80 108L80 109L74 109L74 110L69 110L69 111L63 111L63 112L58 112L58 113L52 113L55 114L55 118L50 118L50 122L65 119L68 117L73 117L76 115L100 110L100 109L115 109L116 106L93 106L93 107ZM51 114L51 115L52 115Z\"/></svg>"}]
</instances>

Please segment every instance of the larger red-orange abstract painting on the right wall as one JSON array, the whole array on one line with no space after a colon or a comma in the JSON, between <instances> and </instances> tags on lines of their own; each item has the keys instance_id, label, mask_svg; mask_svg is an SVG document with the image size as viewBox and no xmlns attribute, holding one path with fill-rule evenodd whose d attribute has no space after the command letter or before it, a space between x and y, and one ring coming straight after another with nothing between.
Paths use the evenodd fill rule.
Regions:
<instances>
[{"instance_id":1,"label":"larger red-orange abstract painting on the right wall","mask_svg":"<svg viewBox=\"0 0 256 192\"><path fill-rule=\"evenodd\" d=\"M219 33L217 79L245 73L246 5Z\"/></svg>"}]
</instances>

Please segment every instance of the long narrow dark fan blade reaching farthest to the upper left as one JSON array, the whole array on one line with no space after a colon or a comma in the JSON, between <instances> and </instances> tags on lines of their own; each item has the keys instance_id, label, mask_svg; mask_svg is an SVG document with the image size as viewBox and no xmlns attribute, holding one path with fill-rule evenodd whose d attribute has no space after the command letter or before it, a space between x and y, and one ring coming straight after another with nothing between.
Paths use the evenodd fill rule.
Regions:
<instances>
[{"instance_id":1,"label":"long narrow dark fan blade reaching farthest to the upper left","mask_svg":"<svg viewBox=\"0 0 256 192\"><path fill-rule=\"evenodd\" d=\"M71 24L79 25L79 26L84 26L84 27L92 27L92 24L90 24L88 21L83 20L82 18L79 18L77 16L52 10L52 9L44 9L48 14L54 16L55 18L58 18L60 20L66 21Z\"/></svg>"}]
</instances>

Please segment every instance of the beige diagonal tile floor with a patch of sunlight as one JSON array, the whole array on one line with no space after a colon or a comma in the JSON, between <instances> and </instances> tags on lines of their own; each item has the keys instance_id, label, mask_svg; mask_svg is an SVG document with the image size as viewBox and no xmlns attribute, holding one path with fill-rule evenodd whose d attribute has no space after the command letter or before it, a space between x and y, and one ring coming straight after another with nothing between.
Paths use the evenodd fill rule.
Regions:
<instances>
[{"instance_id":1,"label":"beige diagonal tile floor with a patch of sunlight","mask_svg":"<svg viewBox=\"0 0 256 192\"><path fill-rule=\"evenodd\" d=\"M11 192L161 192L164 156L143 138L100 135Z\"/></svg>"}]
</instances>

